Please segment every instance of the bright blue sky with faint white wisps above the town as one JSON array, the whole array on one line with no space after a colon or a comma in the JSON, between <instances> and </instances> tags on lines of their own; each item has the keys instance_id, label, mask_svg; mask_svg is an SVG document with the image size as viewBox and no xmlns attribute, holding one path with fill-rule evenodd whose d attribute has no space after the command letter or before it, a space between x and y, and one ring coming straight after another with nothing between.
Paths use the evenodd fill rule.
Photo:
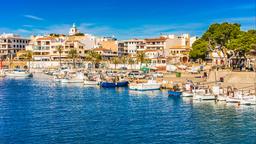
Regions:
<instances>
[{"instance_id":1,"label":"bright blue sky with faint white wisps above the town","mask_svg":"<svg viewBox=\"0 0 256 144\"><path fill-rule=\"evenodd\" d=\"M256 29L256 0L3 0L0 33L80 32L117 39L201 36L212 23Z\"/></svg>"}]
</instances>

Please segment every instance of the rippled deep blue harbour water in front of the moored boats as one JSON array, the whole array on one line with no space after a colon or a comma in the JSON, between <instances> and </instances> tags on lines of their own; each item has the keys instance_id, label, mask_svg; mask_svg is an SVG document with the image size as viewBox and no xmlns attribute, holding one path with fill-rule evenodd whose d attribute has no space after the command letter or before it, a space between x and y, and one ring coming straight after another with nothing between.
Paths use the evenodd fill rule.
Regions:
<instances>
[{"instance_id":1,"label":"rippled deep blue harbour water in front of the moored boats","mask_svg":"<svg viewBox=\"0 0 256 144\"><path fill-rule=\"evenodd\" d=\"M0 79L1 144L256 143L256 106Z\"/></svg>"}]
</instances>

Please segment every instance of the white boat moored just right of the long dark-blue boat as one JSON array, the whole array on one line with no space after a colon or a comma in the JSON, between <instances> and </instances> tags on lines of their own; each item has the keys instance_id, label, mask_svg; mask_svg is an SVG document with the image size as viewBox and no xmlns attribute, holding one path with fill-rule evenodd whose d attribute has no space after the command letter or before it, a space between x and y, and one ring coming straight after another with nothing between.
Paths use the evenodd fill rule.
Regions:
<instances>
[{"instance_id":1,"label":"white boat moored just right of the long dark-blue boat","mask_svg":"<svg viewBox=\"0 0 256 144\"><path fill-rule=\"evenodd\" d=\"M161 88L161 83L155 80L148 80L146 83L131 83L129 84L129 89L147 91L147 90L159 90Z\"/></svg>"}]
</instances>

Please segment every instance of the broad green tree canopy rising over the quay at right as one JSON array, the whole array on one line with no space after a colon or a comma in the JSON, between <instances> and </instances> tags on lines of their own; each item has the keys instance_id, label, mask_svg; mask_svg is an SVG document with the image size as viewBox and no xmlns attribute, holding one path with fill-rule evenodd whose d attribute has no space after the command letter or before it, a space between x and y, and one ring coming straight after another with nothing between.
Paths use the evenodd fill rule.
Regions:
<instances>
[{"instance_id":1,"label":"broad green tree canopy rising over the quay at right","mask_svg":"<svg viewBox=\"0 0 256 144\"><path fill-rule=\"evenodd\" d=\"M228 57L244 56L256 47L256 30L242 31L237 23L215 23L192 45L191 59L205 59L214 48ZM232 51L232 53L228 53Z\"/></svg>"}]
</instances>

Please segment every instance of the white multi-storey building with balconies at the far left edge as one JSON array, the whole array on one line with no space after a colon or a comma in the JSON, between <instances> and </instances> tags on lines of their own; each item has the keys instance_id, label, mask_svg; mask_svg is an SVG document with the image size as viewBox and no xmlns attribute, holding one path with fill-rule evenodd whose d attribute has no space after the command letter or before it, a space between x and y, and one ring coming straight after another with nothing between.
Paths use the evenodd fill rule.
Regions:
<instances>
[{"instance_id":1,"label":"white multi-storey building with balconies at the far left edge","mask_svg":"<svg viewBox=\"0 0 256 144\"><path fill-rule=\"evenodd\" d=\"M0 35L0 57L14 56L18 51L25 50L29 41L15 34Z\"/></svg>"}]
</instances>

